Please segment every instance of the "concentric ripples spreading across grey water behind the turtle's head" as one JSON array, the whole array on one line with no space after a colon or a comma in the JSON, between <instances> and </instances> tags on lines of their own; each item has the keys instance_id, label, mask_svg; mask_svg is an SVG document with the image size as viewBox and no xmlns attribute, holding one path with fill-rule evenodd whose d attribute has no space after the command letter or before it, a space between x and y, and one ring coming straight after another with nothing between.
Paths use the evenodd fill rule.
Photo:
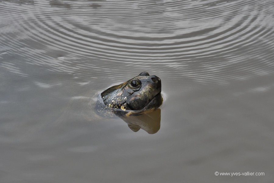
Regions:
<instances>
[{"instance_id":1,"label":"concentric ripples spreading across grey water behind the turtle's head","mask_svg":"<svg viewBox=\"0 0 274 183\"><path fill-rule=\"evenodd\" d=\"M1 62L113 76L134 68L167 81L227 83L274 72L272 0L2 0ZM5 53L5 54L4 54ZM2 54L2 55L1 55ZM24 73L25 72L25 73ZM103 73L103 74L102 74Z\"/></svg>"}]
</instances>

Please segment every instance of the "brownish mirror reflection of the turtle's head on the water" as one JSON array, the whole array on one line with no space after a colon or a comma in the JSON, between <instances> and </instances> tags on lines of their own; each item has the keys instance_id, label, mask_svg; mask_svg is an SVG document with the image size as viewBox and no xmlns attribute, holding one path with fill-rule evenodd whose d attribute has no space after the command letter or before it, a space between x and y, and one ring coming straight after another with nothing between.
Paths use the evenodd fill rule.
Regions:
<instances>
[{"instance_id":1,"label":"brownish mirror reflection of the turtle's head on the water","mask_svg":"<svg viewBox=\"0 0 274 183\"><path fill-rule=\"evenodd\" d=\"M120 117L123 119L133 132L138 132L139 129L143 129L149 134L157 133L160 129L161 122L161 109L141 114L138 116Z\"/></svg>"}]
</instances>

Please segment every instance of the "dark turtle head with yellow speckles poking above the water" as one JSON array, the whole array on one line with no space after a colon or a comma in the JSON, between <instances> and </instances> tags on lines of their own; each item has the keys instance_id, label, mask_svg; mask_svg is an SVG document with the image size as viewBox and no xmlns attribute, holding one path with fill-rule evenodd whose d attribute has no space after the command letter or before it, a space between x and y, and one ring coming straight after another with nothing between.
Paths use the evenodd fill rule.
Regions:
<instances>
[{"instance_id":1,"label":"dark turtle head with yellow speckles poking above the water","mask_svg":"<svg viewBox=\"0 0 274 183\"><path fill-rule=\"evenodd\" d=\"M104 104L122 111L148 111L162 104L161 79L141 72L138 76L101 93Z\"/></svg>"}]
</instances>

